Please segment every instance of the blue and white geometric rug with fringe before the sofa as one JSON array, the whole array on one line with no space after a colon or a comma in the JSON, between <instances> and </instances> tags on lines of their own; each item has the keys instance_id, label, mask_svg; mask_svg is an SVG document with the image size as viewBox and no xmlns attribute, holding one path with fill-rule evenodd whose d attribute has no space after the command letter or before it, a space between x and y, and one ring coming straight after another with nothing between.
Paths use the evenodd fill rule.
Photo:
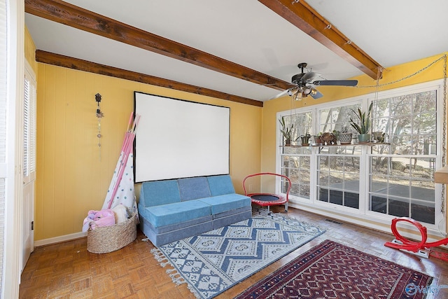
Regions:
<instances>
[{"instance_id":1,"label":"blue and white geometric rug with fringe before the sofa","mask_svg":"<svg viewBox=\"0 0 448 299\"><path fill-rule=\"evenodd\" d=\"M253 211L251 219L152 249L176 284L214 298L311 241L325 230L284 214Z\"/></svg>"}]
</instances>

